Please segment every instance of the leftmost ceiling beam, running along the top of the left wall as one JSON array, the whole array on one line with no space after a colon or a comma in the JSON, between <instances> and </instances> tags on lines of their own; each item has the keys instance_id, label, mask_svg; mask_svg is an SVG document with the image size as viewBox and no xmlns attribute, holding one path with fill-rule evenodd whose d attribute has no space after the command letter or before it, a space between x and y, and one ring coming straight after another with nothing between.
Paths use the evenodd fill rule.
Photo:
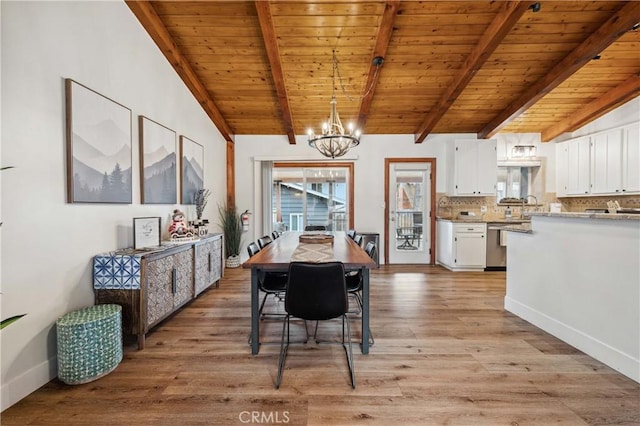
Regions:
<instances>
[{"instance_id":1,"label":"leftmost ceiling beam, running along the top of the left wall","mask_svg":"<svg viewBox=\"0 0 640 426\"><path fill-rule=\"evenodd\" d=\"M233 142L231 127L227 124L222 113L209 96L209 92L202 85L188 61L180 53L180 49L151 3L146 0L126 0L126 3L153 41L158 45L160 51L162 51L169 63L176 70L180 78L182 78L182 81L184 81L187 88L189 88L209 118L211 118L213 124L222 134L222 137L229 142Z\"/></svg>"}]
</instances>

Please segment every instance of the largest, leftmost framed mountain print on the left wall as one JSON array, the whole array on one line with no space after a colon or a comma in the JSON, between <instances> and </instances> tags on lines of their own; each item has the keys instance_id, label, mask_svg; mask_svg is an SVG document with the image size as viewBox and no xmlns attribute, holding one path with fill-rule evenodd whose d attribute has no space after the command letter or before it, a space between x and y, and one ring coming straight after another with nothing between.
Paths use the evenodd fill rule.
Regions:
<instances>
[{"instance_id":1,"label":"largest, leftmost framed mountain print on the left wall","mask_svg":"<svg viewBox=\"0 0 640 426\"><path fill-rule=\"evenodd\" d=\"M67 200L131 204L131 110L65 79Z\"/></svg>"}]
</instances>

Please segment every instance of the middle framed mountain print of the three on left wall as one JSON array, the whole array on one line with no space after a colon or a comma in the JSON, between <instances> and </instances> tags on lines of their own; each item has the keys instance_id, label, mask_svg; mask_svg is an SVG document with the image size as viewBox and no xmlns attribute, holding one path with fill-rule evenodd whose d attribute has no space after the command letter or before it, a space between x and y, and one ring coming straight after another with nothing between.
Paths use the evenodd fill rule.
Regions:
<instances>
[{"instance_id":1,"label":"middle framed mountain print of the three on left wall","mask_svg":"<svg viewBox=\"0 0 640 426\"><path fill-rule=\"evenodd\" d=\"M176 204L176 132L142 115L138 129L142 203Z\"/></svg>"}]
</instances>

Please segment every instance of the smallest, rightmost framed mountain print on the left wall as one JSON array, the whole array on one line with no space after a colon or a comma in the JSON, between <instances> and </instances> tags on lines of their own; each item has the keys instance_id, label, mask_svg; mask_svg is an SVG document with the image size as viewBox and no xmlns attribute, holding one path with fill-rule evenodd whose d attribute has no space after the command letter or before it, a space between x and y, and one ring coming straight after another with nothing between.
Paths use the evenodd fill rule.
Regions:
<instances>
[{"instance_id":1,"label":"smallest, rightmost framed mountain print on the left wall","mask_svg":"<svg viewBox=\"0 0 640 426\"><path fill-rule=\"evenodd\" d=\"M204 147L180 136L180 203L195 204L195 195L204 188Z\"/></svg>"}]
</instances>

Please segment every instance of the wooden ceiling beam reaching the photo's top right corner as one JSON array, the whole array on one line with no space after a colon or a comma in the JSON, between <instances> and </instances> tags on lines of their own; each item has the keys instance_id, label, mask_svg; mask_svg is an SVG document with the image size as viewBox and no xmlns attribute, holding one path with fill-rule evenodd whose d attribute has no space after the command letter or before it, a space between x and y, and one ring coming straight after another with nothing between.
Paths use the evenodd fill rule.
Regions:
<instances>
[{"instance_id":1,"label":"wooden ceiling beam reaching the photo's top right corner","mask_svg":"<svg viewBox=\"0 0 640 426\"><path fill-rule=\"evenodd\" d=\"M544 4L543 6L544 7ZM578 47L558 62L544 77L529 86L514 102L491 120L480 132L478 138L495 135L516 117L542 99L573 73L600 54L604 49L629 31L640 19L640 2L630 1L620 8L600 28L593 32Z\"/></svg>"}]
</instances>

